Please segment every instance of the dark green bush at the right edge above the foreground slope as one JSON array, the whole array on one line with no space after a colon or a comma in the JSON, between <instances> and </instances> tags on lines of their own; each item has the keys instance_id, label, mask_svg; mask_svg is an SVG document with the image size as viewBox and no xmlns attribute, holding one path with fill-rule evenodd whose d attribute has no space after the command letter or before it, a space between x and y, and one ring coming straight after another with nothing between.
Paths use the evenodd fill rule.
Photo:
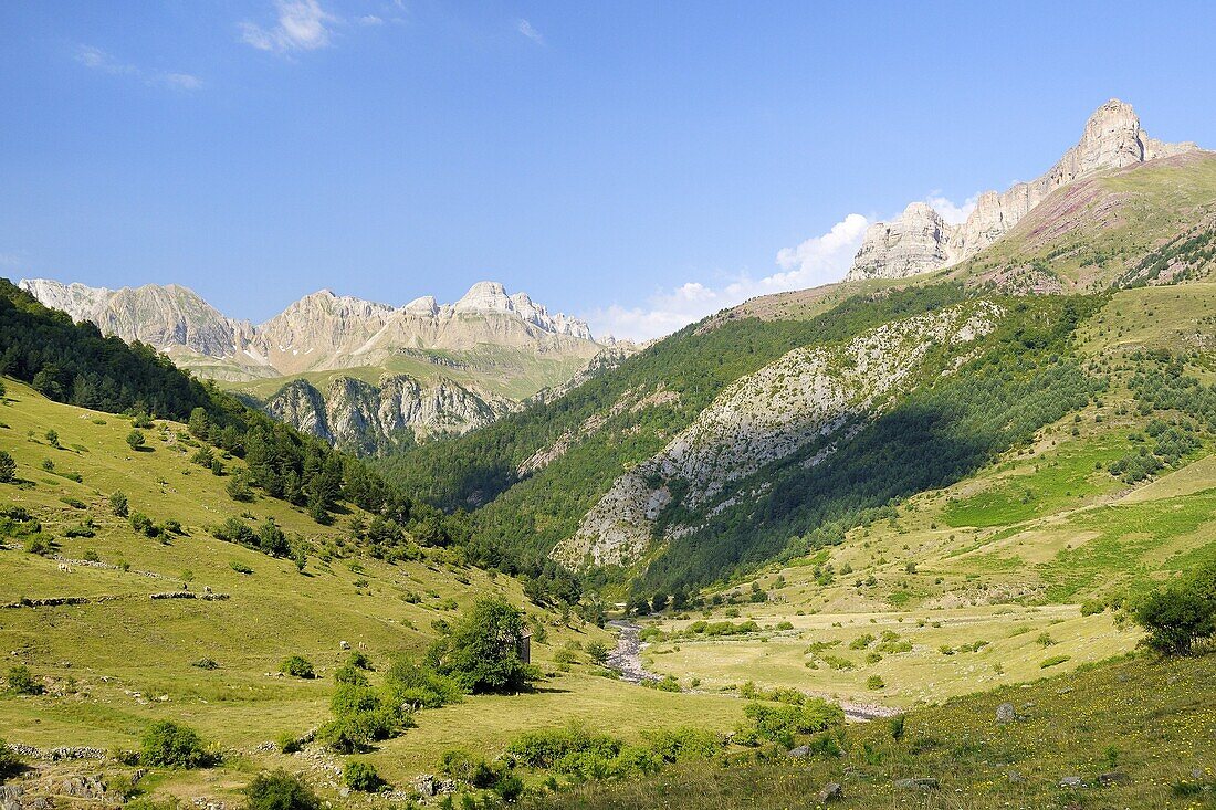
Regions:
<instances>
[{"instance_id":1,"label":"dark green bush at the right edge above the foreground slope","mask_svg":"<svg viewBox=\"0 0 1216 810\"><path fill-rule=\"evenodd\" d=\"M1189 654L1216 639L1216 559L1149 594L1135 618L1148 631L1148 646L1166 656Z\"/></svg>"}]
</instances>

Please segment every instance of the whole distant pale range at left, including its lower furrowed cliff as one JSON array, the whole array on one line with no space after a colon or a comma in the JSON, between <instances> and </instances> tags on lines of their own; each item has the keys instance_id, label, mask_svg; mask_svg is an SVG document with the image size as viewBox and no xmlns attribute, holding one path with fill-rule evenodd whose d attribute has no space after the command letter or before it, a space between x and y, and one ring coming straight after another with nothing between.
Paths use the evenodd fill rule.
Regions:
<instances>
[{"instance_id":1,"label":"whole distant pale range at left, including its lower furrowed cliff","mask_svg":"<svg viewBox=\"0 0 1216 810\"><path fill-rule=\"evenodd\" d=\"M606 348L629 348L610 338L599 344L586 322L492 281L450 304L426 296L404 306L323 289L258 326L179 285L106 289L32 279L19 286L358 452L488 424L567 382Z\"/></svg>"}]
</instances>

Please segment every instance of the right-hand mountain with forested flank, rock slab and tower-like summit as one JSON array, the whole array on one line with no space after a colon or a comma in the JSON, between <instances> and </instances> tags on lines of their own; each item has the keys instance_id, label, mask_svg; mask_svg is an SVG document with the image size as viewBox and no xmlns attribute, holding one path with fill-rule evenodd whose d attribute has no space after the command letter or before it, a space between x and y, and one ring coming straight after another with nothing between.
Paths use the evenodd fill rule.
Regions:
<instances>
[{"instance_id":1,"label":"right-hand mountain with forested flank, rock slab and tower-like summit","mask_svg":"<svg viewBox=\"0 0 1216 810\"><path fill-rule=\"evenodd\" d=\"M844 282L753 299L381 463L520 553L696 587L863 534L1069 420L1107 431L1108 399L1150 414L1115 370L1141 348L1210 350L1216 154L1149 139L1113 101L1043 179L986 199L957 230L917 207L935 235L876 226ZM1137 292L1166 285L1169 319ZM1116 289L1135 294L1108 305ZM1109 327L1132 311L1149 320ZM1118 422L1120 446L1143 428Z\"/></svg>"}]
</instances>

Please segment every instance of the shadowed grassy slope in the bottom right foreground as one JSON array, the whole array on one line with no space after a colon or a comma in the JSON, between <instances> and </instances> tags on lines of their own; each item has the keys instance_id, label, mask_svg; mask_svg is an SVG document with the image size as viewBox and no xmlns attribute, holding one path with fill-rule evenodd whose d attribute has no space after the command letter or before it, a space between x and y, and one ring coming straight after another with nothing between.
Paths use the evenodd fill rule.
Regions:
<instances>
[{"instance_id":1,"label":"shadowed grassy slope in the bottom right foreground","mask_svg":"<svg viewBox=\"0 0 1216 810\"><path fill-rule=\"evenodd\" d=\"M841 797L828 806L840 808L1212 806L1214 686L1216 657L1133 658L910 711L899 739L889 722L850 726L839 756L758 752L750 764L676 766L525 806L784 810L824 806L816 795L832 782ZM997 719L1002 703L1015 719Z\"/></svg>"}]
</instances>

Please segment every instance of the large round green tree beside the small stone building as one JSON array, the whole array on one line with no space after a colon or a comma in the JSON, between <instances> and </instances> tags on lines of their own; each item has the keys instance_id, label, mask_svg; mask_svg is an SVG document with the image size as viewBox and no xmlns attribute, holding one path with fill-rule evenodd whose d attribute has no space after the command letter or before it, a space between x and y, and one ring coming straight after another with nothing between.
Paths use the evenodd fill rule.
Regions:
<instances>
[{"instance_id":1,"label":"large round green tree beside the small stone building","mask_svg":"<svg viewBox=\"0 0 1216 810\"><path fill-rule=\"evenodd\" d=\"M524 620L502 597L474 602L427 654L428 665L466 692L518 692L536 680L519 658Z\"/></svg>"}]
</instances>

